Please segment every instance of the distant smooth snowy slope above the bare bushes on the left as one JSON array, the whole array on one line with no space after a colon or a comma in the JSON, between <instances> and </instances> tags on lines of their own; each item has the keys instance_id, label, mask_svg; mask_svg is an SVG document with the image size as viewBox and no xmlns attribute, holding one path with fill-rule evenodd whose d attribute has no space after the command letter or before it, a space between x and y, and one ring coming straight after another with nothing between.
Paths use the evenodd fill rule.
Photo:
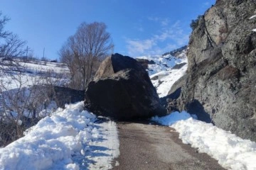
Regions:
<instances>
[{"instance_id":1,"label":"distant smooth snowy slope above the bare bushes on the left","mask_svg":"<svg viewBox=\"0 0 256 170\"><path fill-rule=\"evenodd\" d=\"M69 81L68 67L57 62L20 62L16 66L0 65L0 83L5 90L28 87L34 84L56 83L61 86ZM50 78L50 79L49 79Z\"/></svg>"}]
</instances>

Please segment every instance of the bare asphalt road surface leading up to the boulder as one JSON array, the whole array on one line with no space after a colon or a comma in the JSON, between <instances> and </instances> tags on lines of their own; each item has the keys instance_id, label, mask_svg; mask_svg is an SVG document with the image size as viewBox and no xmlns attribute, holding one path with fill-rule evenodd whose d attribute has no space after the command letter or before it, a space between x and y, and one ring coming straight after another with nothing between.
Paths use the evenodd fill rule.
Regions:
<instances>
[{"instance_id":1,"label":"bare asphalt road surface leading up to the boulder","mask_svg":"<svg viewBox=\"0 0 256 170\"><path fill-rule=\"evenodd\" d=\"M201 154L178 139L174 129L148 123L117 123L120 155L114 170L223 169L207 154Z\"/></svg>"}]
</instances>

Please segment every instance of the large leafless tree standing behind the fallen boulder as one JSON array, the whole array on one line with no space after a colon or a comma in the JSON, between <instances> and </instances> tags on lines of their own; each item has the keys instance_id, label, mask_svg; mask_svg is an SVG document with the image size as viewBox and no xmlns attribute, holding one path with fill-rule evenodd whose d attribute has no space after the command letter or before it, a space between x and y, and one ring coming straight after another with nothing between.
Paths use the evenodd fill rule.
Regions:
<instances>
[{"instance_id":1,"label":"large leafless tree standing behind the fallen boulder","mask_svg":"<svg viewBox=\"0 0 256 170\"><path fill-rule=\"evenodd\" d=\"M60 49L60 60L68 65L71 87L84 90L99 62L110 55L114 45L105 23L82 23Z\"/></svg>"}]
</instances>

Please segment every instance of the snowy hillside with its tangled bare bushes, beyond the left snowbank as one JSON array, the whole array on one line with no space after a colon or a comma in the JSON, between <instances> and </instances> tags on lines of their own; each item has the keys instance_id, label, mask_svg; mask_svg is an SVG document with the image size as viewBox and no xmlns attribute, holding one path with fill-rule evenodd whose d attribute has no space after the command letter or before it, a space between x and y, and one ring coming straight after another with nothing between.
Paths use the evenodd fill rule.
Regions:
<instances>
[{"instance_id":1,"label":"snowy hillside with its tangled bare bushes, beyond the left snowbank","mask_svg":"<svg viewBox=\"0 0 256 170\"><path fill-rule=\"evenodd\" d=\"M53 113L53 86L69 81L65 64L0 59L0 147L23 136L26 128Z\"/></svg>"}]
</instances>

